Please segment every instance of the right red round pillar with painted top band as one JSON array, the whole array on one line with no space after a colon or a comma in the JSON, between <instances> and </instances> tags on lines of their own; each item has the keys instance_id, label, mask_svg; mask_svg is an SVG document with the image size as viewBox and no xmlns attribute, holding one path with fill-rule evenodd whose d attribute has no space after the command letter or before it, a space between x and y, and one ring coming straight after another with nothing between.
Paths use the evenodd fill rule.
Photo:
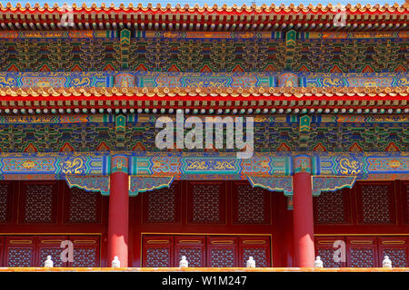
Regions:
<instances>
[{"instance_id":1,"label":"right red round pillar with painted top band","mask_svg":"<svg viewBox=\"0 0 409 290\"><path fill-rule=\"evenodd\" d=\"M314 267L314 211L311 160L294 158L293 175L294 266Z\"/></svg>"}]
</instances>

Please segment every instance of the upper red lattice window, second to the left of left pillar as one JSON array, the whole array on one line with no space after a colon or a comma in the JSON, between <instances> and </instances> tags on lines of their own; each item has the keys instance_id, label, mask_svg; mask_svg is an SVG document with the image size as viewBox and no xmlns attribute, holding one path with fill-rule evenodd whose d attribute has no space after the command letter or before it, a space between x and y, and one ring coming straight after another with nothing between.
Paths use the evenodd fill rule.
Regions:
<instances>
[{"instance_id":1,"label":"upper red lattice window, second to the left of left pillar","mask_svg":"<svg viewBox=\"0 0 409 290\"><path fill-rule=\"evenodd\" d=\"M52 223L55 187L48 184L27 185L25 223Z\"/></svg>"}]
</instances>

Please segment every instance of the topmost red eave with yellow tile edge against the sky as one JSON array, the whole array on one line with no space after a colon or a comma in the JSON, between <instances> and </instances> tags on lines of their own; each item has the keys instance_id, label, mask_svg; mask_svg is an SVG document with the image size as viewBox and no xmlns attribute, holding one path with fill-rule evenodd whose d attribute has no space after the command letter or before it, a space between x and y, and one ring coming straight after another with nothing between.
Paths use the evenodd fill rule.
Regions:
<instances>
[{"instance_id":1,"label":"topmost red eave with yellow tile edge against the sky","mask_svg":"<svg viewBox=\"0 0 409 290\"><path fill-rule=\"evenodd\" d=\"M336 5L72 5L72 29L191 30L401 30L407 28L409 5L346 5L346 24L334 25ZM64 7L36 4L0 5L3 29L55 30Z\"/></svg>"}]
</instances>

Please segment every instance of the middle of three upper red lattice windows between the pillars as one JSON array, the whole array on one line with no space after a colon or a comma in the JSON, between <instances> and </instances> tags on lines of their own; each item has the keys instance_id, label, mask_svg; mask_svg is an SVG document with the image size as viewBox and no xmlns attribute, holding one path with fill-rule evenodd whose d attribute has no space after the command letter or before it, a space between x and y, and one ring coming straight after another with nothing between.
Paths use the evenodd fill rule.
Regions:
<instances>
[{"instance_id":1,"label":"middle of three upper red lattice windows between the pillars","mask_svg":"<svg viewBox=\"0 0 409 290\"><path fill-rule=\"evenodd\" d=\"M192 184L192 222L221 223L221 186L217 184Z\"/></svg>"}]
</instances>

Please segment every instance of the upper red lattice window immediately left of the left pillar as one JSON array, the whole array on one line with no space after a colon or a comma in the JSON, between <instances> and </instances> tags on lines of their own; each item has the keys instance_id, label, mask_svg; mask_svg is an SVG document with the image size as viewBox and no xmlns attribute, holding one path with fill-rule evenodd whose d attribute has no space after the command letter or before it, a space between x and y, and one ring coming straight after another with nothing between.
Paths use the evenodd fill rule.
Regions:
<instances>
[{"instance_id":1,"label":"upper red lattice window immediately left of the left pillar","mask_svg":"<svg viewBox=\"0 0 409 290\"><path fill-rule=\"evenodd\" d=\"M66 189L65 223L95 224L101 223L102 197L100 193L83 189Z\"/></svg>"}]
</instances>

